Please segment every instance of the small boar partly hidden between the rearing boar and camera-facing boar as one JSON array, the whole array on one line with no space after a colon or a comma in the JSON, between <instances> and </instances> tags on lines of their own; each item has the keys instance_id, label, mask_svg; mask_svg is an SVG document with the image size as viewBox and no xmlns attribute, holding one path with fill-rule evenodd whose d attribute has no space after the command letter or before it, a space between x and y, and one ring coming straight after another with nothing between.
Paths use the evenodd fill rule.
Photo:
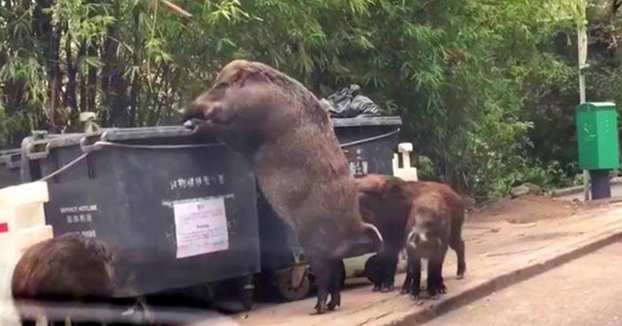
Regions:
<instances>
[{"instance_id":1,"label":"small boar partly hidden between the rearing boar and camera-facing boar","mask_svg":"<svg viewBox=\"0 0 622 326\"><path fill-rule=\"evenodd\" d=\"M384 248L366 263L373 291L393 290L399 253L406 241L406 223L413 196L408 184L394 176L368 174L356 179L363 220L378 228Z\"/></svg>"}]
</instances>

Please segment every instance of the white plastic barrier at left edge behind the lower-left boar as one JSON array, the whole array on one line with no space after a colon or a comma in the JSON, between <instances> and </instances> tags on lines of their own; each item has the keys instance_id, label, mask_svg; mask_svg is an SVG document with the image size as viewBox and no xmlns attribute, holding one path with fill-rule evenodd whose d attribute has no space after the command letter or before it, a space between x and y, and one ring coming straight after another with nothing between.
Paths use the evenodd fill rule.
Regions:
<instances>
[{"instance_id":1,"label":"white plastic barrier at left edge behind the lower-left boar","mask_svg":"<svg viewBox=\"0 0 622 326\"><path fill-rule=\"evenodd\" d=\"M0 189L0 325L17 325L11 303L13 268L30 246L52 238L45 225L43 204L49 200L46 182Z\"/></svg>"}]
</instances>

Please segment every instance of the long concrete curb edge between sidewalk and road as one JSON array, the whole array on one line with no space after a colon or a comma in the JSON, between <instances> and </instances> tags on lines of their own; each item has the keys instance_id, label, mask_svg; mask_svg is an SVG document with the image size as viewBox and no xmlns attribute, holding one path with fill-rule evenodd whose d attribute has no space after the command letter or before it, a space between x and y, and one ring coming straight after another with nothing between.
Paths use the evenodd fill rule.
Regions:
<instances>
[{"instance_id":1,"label":"long concrete curb edge between sidewalk and road","mask_svg":"<svg viewBox=\"0 0 622 326\"><path fill-rule=\"evenodd\" d=\"M510 285L519 283L538 274L542 274L618 240L622 240L622 228L611 227L606 231L599 232L593 237L570 245L567 248L563 248L551 254L544 254L533 258L529 260L527 264L518 266L518 268L510 268L510 270L504 271L498 276L488 280L474 282L472 286L469 286L466 290L461 291L460 293L448 293L438 302L430 304L423 309L417 309L412 313L402 314L397 318L391 318L392 320L386 320L379 325L414 326L423 324L441 314L445 314L451 310L465 306Z\"/></svg>"}]
</instances>

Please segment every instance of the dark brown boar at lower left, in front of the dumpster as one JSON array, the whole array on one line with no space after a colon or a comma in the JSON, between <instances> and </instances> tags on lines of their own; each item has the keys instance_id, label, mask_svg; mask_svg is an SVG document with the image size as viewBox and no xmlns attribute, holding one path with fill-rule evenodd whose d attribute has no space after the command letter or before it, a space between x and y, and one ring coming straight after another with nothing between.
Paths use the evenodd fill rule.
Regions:
<instances>
[{"instance_id":1,"label":"dark brown boar at lower left, in front of the dumpster","mask_svg":"<svg viewBox=\"0 0 622 326\"><path fill-rule=\"evenodd\" d=\"M13 300L22 325L34 326L32 319L20 309L36 302L79 302L107 300L114 291L113 256L95 238L69 233L39 242L20 258L11 280ZM39 311L49 316L46 309ZM64 324L63 320L51 320ZM79 323L78 323L79 324Z\"/></svg>"}]
</instances>

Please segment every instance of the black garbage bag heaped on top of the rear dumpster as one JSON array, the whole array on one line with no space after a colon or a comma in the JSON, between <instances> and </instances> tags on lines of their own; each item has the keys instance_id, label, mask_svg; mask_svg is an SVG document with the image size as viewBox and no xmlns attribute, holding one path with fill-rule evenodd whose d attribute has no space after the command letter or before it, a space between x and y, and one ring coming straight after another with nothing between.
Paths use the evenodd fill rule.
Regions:
<instances>
[{"instance_id":1,"label":"black garbage bag heaped on top of the rear dumpster","mask_svg":"<svg viewBox=\"0 0 622 326\"><path fill-rule=\"evenodd\" d=\"M379 116L376 103L367 96L359 95L360 90L359 85L350 85L322 99L322 105L332 118Z\"/></svg>"}]
</instances>

